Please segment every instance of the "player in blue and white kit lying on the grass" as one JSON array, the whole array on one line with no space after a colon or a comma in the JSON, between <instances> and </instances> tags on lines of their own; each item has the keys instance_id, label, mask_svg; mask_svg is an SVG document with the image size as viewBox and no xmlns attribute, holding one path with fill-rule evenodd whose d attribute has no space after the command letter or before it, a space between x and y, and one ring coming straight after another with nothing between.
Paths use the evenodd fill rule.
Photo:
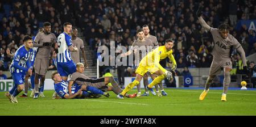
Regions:
<instances>
[{"instance_id":1,"label":"player in blue and white kit lying on the grass","mask_svg":"<svg viewBox=\"0 0 256 127\"><path fill-rule=\"evenodd\" d=\"M103 92L92 86L78 86L77 84L72 86L72 90L70 92L67 92L68 82L65 82L57 72L52 74L52 80L54 81L54 90L56 91L57 95L63 99L83 99L91 96L92 94L100 94L109 97L108 92Z\"/></svg>"}]
</instances>

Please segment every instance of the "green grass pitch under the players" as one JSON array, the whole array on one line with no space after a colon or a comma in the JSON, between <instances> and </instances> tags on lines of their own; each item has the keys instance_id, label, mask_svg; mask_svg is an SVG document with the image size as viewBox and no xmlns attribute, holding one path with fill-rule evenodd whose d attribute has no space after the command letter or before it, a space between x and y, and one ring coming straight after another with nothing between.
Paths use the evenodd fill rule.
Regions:
<instances>
[{"instance_id":1,"label":"green grass pitch under the players","mask_svg":"<svg viewBox=\"0 0 256 127\"><path fill-rule=\"evenodd\" d=\"M117 99L110 92L110 98L54 100L53 91L44 91L46 98L18 98L18 104L0 92L0 115L256 115L256 91L229 90L226 102L221 101L222 90L210 90L203 101L199 100L202 90L166 88L166 92L161 98Z\"/></svg>"}]
</instances>

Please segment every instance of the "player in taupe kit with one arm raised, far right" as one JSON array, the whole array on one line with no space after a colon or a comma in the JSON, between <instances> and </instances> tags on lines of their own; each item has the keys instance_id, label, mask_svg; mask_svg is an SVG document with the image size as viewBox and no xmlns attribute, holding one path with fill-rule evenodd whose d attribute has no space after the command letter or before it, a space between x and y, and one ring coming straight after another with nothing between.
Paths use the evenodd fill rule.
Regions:
<instances>
[{"instance_id":1,"label":"player in taupe kit with one arm raised, far right","mask_svg":"<svg viewBox=\"0 0 256 127\"><path fill-rule=\"evenodd\" d=\"M220 24L218 28L212 28L205 23L202 18L201 7L196 12L199 22L201 26L207 31L210 31L213 36L214 45L212 46L212 55L213 61L212 65L210 65L210 74L207 78L207 82L205 83L205 90L199 97L199 100L204 100L207 95L210 87L210 83L213 81L214 77L217 74L220 74L221 67L224 68L224 81L223 81L223 93L221 100L226 101L226 93L228 92L228 87L230 83L230 71L232 70L232 61L230 58L230 50L232 48L236 49L242 57L243 62L243 70L246 71L246 74L249 74L246 66L246 58L245 52L240 43L238 43L237 39L229 34L229 26L228 24Z\"/></svg>"}]
</instances>

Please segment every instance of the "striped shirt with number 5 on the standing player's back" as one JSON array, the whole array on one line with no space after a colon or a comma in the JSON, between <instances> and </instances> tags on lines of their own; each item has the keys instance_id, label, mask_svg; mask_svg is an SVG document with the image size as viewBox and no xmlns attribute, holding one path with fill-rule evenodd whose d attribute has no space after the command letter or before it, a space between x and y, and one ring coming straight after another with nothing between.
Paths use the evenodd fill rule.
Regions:
<instances>
[{"instance_id":1,"label":"striped shirt with number 5 on the standing player's back","mask_svg":"<svg viewBox=\"0 0 256 127\"><path fill-rule=\"evenodd\" d=\"M72 62L71 54L69 52L68 46L72 45L71 36L67 33L61 33L57 38L58 43L58 53L57 62Z\"/></svg>"}]
</instances>

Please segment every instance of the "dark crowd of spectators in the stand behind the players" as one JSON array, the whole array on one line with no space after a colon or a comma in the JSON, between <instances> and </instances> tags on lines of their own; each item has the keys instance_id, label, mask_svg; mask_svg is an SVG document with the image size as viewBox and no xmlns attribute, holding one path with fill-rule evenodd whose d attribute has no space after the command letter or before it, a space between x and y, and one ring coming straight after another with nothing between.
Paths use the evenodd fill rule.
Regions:
<instances>
[{"instance_id":1,"label":"dark crowd of spectators in the stand behind the players","mask_svg":"<svg viewBox=\"0 0 256 127\"><path fill-rule=\"evenodd\" d=\"M52 24L56 37L63 32L63 23L72 23L81 29L84 41L95 52L98 46L109 47L110 41L115 41L115 46L130 46L136 39L136 30L148 24L159 45L169 38L175 40L173 54L178 68L209 67L212 55L208 46L213 40L197 21L195 11L199 5L203 5L203 16L209 26L217 28L220 23L228 23L230 34L242 44L246 56L255 53L255 31L248 31L246 26L236 29L238 20L256 19L255 1L1 0L0 70L9 70L12 58L6 49L15 53L23 43L23 36L35 36L44 22ZM236 67L239 60L236 53L234 56ZM162 64L168 67L166 61Z\"/></svg>"}]
</instances>

